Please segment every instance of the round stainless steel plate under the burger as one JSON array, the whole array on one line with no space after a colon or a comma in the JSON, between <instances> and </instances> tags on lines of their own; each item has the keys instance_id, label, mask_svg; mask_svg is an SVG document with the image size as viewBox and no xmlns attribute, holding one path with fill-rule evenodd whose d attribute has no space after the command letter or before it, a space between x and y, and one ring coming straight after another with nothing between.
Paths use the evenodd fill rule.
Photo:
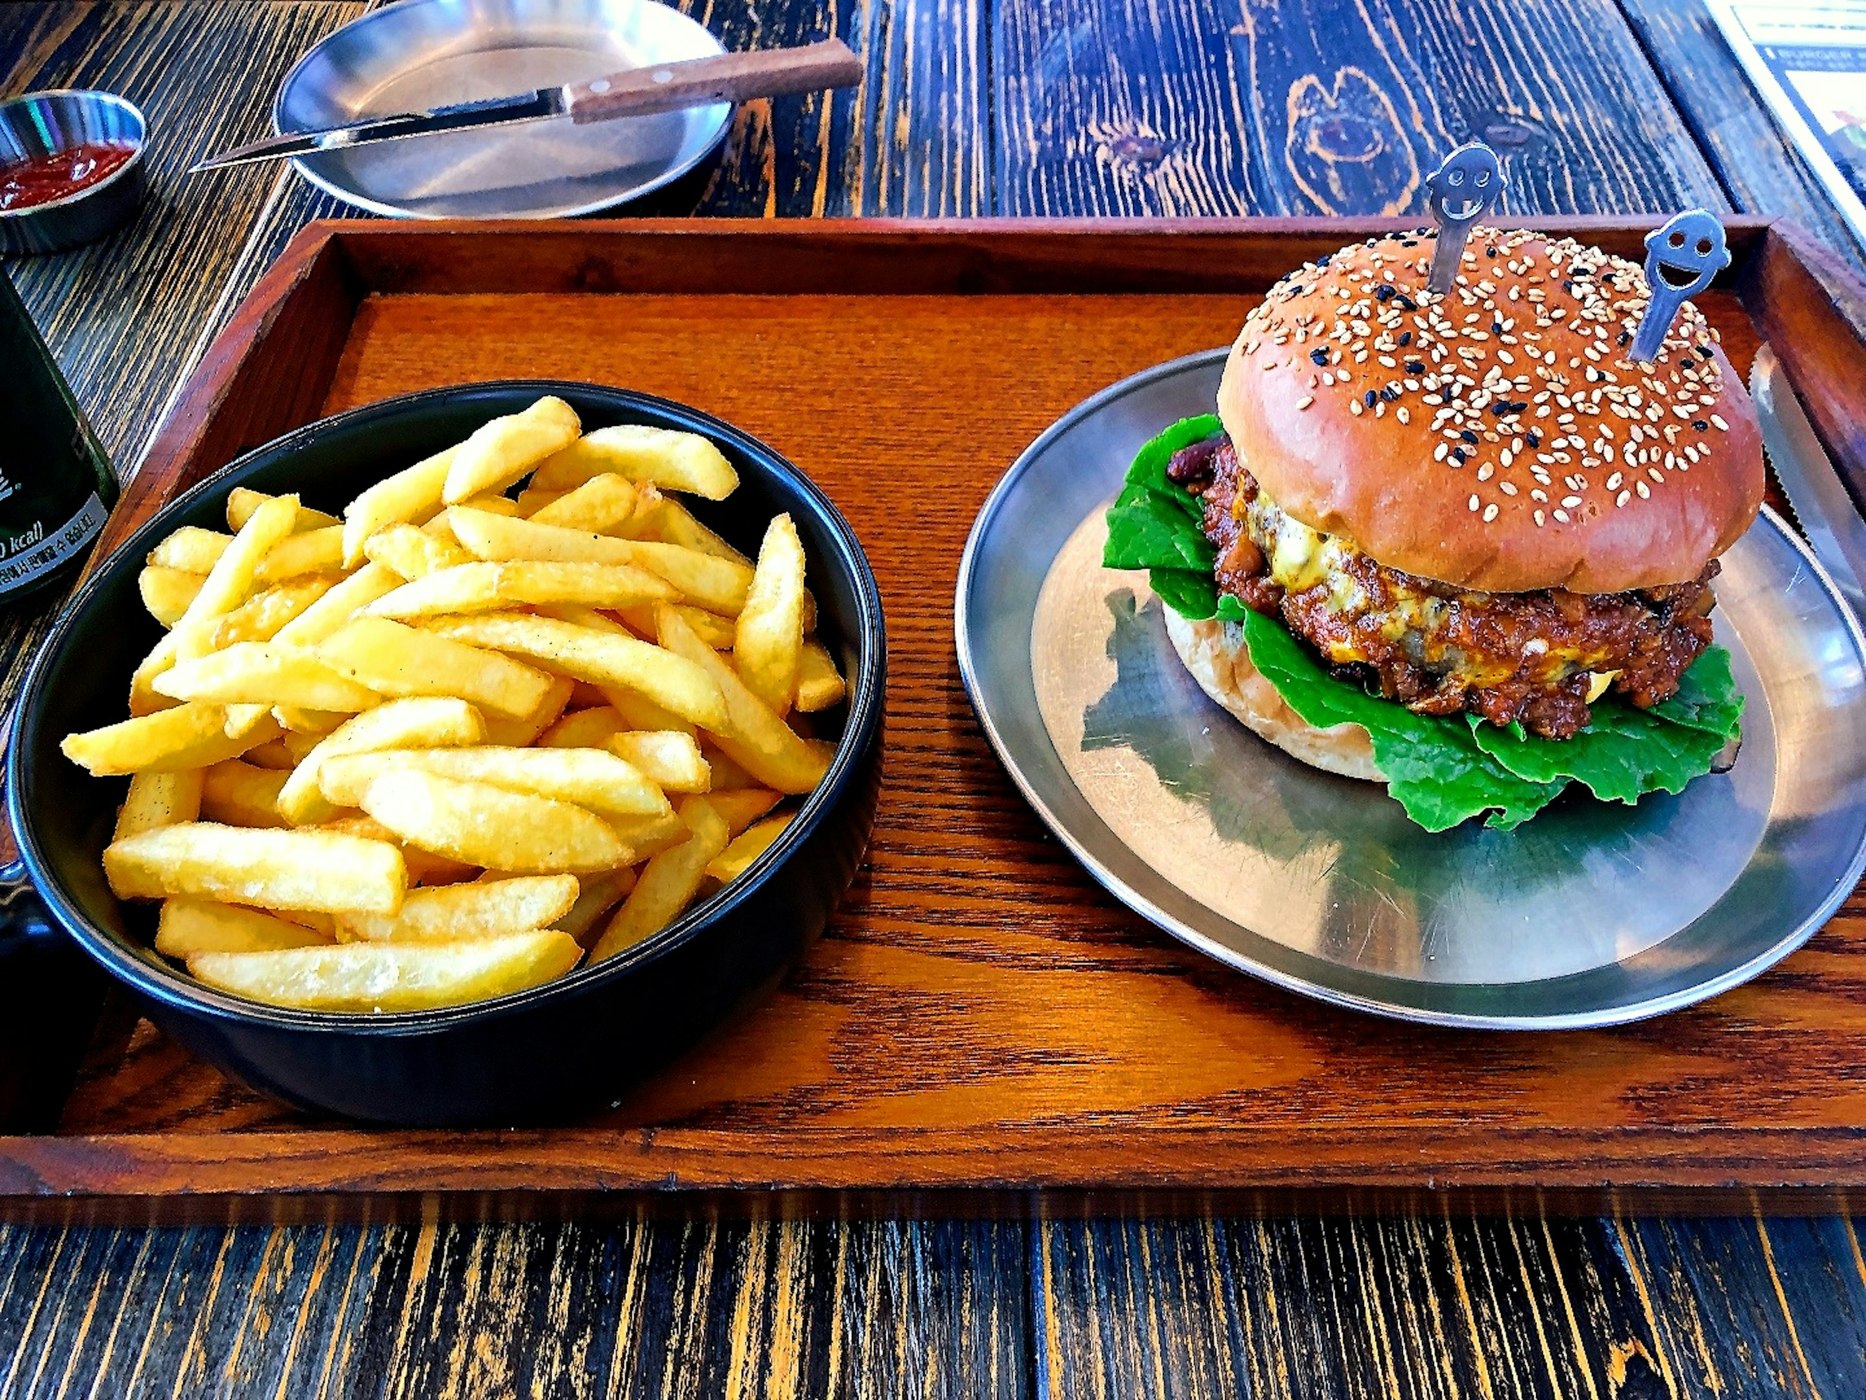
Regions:
<instances>
[{"instance_id":1,"label":"round stainless steel plate under the burger","mask_svg":"<svg viewBox=\"0 0 1866 1400\"><path fill-rule=\"evenodd\" d=\"M1655 1015L1829 918L1866 866L1866 640L1775 513L1717 581L1717 640L1748 698L1730 773L1435 836L1383 788L1299 763L1211 704L1146 575L1101 567L1135 450L1209 413L1222 368L1224 351L1176 360L1058 420L985 502L959 569L980 721L1103 885L1293 991L1463 1027Z\"/></svg>"}]
</instances>

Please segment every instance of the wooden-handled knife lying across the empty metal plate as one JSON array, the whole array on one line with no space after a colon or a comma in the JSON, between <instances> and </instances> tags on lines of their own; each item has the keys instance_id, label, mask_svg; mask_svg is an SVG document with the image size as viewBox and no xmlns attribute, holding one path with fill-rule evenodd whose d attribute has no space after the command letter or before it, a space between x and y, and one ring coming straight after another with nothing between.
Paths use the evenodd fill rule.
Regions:
<instances>
[{"instance_id":1,"label":"wooden-handled knife lying across the empty metal plate","mask_svg":"<svg viewBox=\"0 0 1866 1400\"><path fill-rule=\"evenodd\" d=\"M325 131L295 131L250 146L235 146L190 166L218 170L248 161L278 161L293 155L347 151L375 142L407 136L433 136L442 131L472 131L504 127L515 121L545 121L567 116L577 125L608 121L623 116L675 112L683 106L711 106L746 97L782 97L821 88L853 88L862 80L862 62L842 39L802 45L799 49L759 49L748 54L715 54L683 63L653 63L649 67L610 73L590 82L562 88L536 88L511 97L487 97L478 103L455 103L427 112L401 112L368 118Z\"/></svg>"}]
</instances>

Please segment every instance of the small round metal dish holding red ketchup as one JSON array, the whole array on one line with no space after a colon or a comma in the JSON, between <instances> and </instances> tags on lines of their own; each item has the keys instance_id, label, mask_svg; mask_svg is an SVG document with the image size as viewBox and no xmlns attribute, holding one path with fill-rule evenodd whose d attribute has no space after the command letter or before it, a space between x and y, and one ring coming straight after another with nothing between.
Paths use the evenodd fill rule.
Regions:
<instances>
[{"instance_id":1,"label":"small round metal dish holding red ketchup","mask_svg":"<svg viewBox=\"0 0 1866 1400\"><path fill-rule=\"evenodd\" d=\"M63 88L0 103L0 166L69 151L86 142L127 142L134 155L63 200L0 209L0 254L58 252L95 243L123 224L149 189L142 159L149 123L134 103L106 91Z\"/></svg>"}]
</instances>

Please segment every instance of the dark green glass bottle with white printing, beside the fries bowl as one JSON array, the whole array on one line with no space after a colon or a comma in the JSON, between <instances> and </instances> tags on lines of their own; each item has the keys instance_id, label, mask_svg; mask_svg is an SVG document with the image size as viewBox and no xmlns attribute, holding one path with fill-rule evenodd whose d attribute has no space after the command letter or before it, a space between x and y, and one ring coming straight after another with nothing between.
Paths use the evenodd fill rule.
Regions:
<instances>
[{"instance_id":1,"label":"dark green glass bottle with white printing, beside the fries bowl","mask_svg":"<svg viewBox=\"0 0 1866 1400\"><path fill-rule=\"evenodd\" d=\"M0 267L0 605L71 577L118 498L103 442Z\"/></svg>"}]
</instances>

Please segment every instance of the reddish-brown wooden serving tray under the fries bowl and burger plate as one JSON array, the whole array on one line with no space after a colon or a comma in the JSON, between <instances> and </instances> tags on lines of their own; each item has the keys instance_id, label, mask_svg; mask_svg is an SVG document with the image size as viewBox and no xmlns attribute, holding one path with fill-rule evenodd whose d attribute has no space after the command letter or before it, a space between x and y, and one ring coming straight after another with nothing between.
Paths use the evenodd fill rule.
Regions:
<instances>
[{"instance_id":1,"label":"reddish-brown wooden serving tray under the fries bowl and burger plate","mask_svg":"<svg viewBox=\"0 0 1866 1400\"><path fill-rule=\"evenodd\" d=\"M1657 218L1549 222L1638 256ZM1131 915L980 734L954 581L1004 469L1079 399L1230 342L1278 274L1377 228L308 228L188 383L108 538L289 427L405 390L541 375L720 414L834 497L881 579L892 693L870 861L767 1002L562 1129L308 1120L106 1002L56 1127L0 1137L0 1213L508 1215L754 1193L1021 1210L1028 1191L1069 1208L1847 1208L1866 1187L1859 896L1773 973L1657 1021L1400 1025L1258 984ZM1859 497L1866 291L1788 228L1734 220L1730 241L1707 314L1745 371L1762 338L1776 347Z\"/></svg>"}]
</instances>

